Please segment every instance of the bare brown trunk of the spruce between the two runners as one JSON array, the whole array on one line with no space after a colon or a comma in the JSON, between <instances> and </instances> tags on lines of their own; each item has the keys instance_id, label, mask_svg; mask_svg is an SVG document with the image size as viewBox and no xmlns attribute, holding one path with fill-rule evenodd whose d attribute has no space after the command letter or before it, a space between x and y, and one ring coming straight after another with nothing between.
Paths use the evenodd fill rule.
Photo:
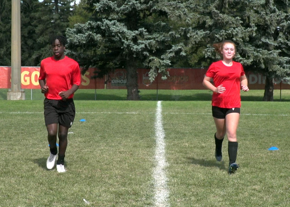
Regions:
<instances>
[{"instance_id":1,"label":"bare brown trunk of the spruce between the two runners","mask_svg":"<svg viewBox=\"0 0 290 207\"><path fill-rule=\"evenodd\" d=\"M137 101L140 100L139 90L138 90L138 75L137 67L134 60L128 61L127 68L127 100Z\"/></svg>"}]
</instances>

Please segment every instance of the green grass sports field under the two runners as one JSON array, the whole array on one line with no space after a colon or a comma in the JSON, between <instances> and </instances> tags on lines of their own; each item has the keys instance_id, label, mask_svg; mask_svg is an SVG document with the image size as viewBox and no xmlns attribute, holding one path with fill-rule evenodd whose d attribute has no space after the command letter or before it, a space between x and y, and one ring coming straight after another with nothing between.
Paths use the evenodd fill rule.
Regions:
<instances>
[{"instance_id":1,"label":"green grass sports field under the two runners","mask_svg":"<svg viewBox=\"0 0 290 207\"><path fill-rule=\"evenodd\" d=\"M75 100L67 172L57 173L46 169L43 101L0 100L0 206L162 206L154 199L157 103ZM289 206L289 102L242 101L240 168L230 176L227 141L223 161L214 158L211 101L160 106L164 206Z\"/></svg>"}]
</instances>

